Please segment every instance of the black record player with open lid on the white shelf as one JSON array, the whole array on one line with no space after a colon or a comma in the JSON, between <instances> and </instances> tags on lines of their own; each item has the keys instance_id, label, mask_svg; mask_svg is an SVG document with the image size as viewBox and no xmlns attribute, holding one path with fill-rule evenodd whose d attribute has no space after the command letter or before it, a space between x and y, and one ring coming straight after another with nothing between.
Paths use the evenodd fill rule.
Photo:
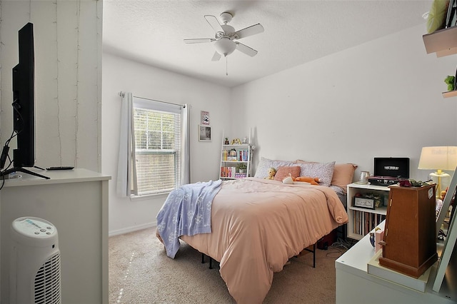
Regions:
<instances>
[{"instance_id":1,"label":"black record player with open lid on the white shelf","mask_svg":"<svg viewBox=\"0 0 457 304\"><path fill-rule=\"evenodd\" d=\"M391 186L407 178L409 178L409 158L375 157L374 176L368 177L368 183L375 186Z\"/></svg>"}]
</instances>

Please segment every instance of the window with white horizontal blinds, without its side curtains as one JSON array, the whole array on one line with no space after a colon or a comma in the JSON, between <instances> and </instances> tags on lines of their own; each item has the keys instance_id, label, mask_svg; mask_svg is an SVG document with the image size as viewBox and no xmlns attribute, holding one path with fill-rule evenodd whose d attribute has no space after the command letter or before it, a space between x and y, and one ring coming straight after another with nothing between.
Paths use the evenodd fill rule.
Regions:
<instances>
[{"instance_id":1,"label":"window with white horizontal blinds, without its side curtains","mask_svg":"<svg viewBox=\"0 0 457 304\"><path fill-rule=\"evenodd\" d=\"M181 113L134 98L134 136L138 195L172 191L180 184Z\"/></svg>"}]
</instances>

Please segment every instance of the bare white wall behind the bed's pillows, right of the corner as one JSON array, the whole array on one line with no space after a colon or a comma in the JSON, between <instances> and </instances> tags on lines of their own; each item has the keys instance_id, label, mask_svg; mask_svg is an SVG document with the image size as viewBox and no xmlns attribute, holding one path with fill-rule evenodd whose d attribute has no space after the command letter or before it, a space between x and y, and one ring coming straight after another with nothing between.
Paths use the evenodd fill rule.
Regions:
<instances>
[{"instance_id":1,"label":"bare white wall behind the bed's pillows, right of the corner","mask_svg":"<svg viewBox=\"0 0 457 304\"><path fill-rule=\"evenodd\" d=\"M425 33L415 26L234 88L245 116L232 133L255 128L256 162L352 162L358 178L374 157L409 157L411 178L426 180L421 148L457 146L457 100L441 96L457 61L426 54Z\"/></svg>"}]
</instances>

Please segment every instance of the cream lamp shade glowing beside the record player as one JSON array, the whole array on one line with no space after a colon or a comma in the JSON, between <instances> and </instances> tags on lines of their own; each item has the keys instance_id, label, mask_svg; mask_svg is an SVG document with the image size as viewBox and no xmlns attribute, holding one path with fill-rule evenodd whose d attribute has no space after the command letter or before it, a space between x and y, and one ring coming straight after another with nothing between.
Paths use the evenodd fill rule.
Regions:
<instances>
[{"instance_id":1,"label":"cream lamp shade glowing beside the record player","mask_svg":"<svg viewBox=\"0 0 457 304\"><path fill-rule=\"evenodd\" d=\"M457 147L423 147L418 169L456 170Z\"/></svg>"}]
</instances>

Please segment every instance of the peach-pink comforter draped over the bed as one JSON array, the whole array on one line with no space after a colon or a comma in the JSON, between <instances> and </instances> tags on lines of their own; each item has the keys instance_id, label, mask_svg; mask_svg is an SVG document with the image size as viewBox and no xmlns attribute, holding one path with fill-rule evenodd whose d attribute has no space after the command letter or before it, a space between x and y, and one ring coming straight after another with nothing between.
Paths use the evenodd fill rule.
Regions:
<instances>
[{"instance_id":1,"label":"peach-pink comforter draped over the bed","mask_svg":"<svg viewBox=\"0 0 457 304\"><path fill-rule=\"evenodd\" d=\"M211 233L181 239L220 262L237 303L262 303L273 273L348 216L336 193L260 178L224 181L213 201Z\"/></svg>"}]
</instances>

